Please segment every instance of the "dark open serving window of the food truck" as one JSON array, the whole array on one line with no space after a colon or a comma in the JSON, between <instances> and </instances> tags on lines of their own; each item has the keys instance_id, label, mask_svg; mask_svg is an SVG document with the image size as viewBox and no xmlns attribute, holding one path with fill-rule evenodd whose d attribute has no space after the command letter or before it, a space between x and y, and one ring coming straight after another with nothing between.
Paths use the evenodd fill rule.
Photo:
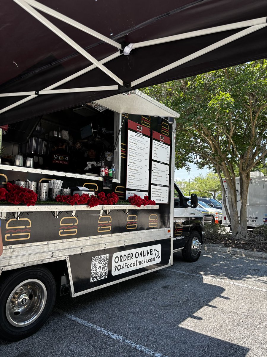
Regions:
<instances>
[{"instance_id":1,"label":"dark open serving window of the food truck","mask_svg":"<svg viewBox=\"0 0 267 357\"><path fill-rule=\"evenodd\" d=\"M91 180L102 180L101 167L111 169L114 164L113 178L118 179L120 125L121 115L90 103L20 121L2 131L1 164L17 165L19 155L19 165L26 165L30 172L59 171L64 176L87 175Z\"/></svg>"}]
</instances>

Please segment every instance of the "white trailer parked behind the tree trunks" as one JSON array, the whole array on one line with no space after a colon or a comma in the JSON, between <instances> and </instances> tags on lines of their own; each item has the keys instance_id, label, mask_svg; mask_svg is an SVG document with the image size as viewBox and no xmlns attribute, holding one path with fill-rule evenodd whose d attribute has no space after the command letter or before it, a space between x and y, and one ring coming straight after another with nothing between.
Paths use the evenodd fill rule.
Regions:
<instances>
[{"instance_id":1,"label":"white trailer parked behind the tree trunks","mask_svg":"<svg viewBox=\"0 0 267 357\"><path fill-rule=\"evenodd\" d=\"M225 200L227 209L228 204L228 188L226 181ZM236 178L236 196L237 196L237 210L240 213L240 183L239 177ZM247 226L254 228L259 225L267 225L267 176L262 172L256 171L250 174L250 183L248 187L247 197ZM230 222L226 216L225 206L223 205L223 226L230 226Z\"/></svg>"}]
</instances>

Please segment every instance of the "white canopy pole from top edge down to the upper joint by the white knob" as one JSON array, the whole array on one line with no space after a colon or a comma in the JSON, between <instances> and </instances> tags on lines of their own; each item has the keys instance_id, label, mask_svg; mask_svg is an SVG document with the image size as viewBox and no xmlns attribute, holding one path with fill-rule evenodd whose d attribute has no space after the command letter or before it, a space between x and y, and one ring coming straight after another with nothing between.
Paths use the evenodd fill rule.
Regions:
<instances>
[{"instance_id":1,"label":"white canopy pole from top edge down to the upper joint by the white knob","mask_svg":"<svg viewBox=\"0 0 267 357\"><path fill-rule=\"evenodd\" d=\"M64 22L66 22L67 24L69 24L69 25L71 25L73 27L77 27L77 29L84 31L87 34L92 35L92 36L98 38L99 40L110 44L111 46L117 47L119 50L122 49L121 44L119 44L118 42L116 42L114 40L111 40L111 39L109 39L108 37L106 37L104 35L99 34L99 32L96 32L96 31L90 29L89 27L84 26L84 25L80 24L79 22L77 22L77 21L75 21L73 19L70 19L70 17L63 15L60 12L55 11L55 10L51 9L50 7L48 7L48 6L40 4L40 2L38 2L38 1L35 1L35 0L24 0L24 1L27 2L27 4L31 5L32 7L35 7L35 9L41 10L41 11L45 12L48 15L56 17L56 19L64 21Z\"/></svg>"}]
</instances>

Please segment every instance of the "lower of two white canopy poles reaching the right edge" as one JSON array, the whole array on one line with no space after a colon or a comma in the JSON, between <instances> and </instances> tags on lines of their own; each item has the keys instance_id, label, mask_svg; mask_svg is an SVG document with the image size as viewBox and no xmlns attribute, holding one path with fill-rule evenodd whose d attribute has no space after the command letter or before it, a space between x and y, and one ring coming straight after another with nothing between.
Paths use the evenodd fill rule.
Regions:
<instances>
[{"instance_id":1,"label":"lower of two white canopy poles reaching the right edge","mask_svg":"<svg viewBox=\"0 0 267 357\"><path fill-rule=\"evenodd\" d=\"M199 57L199 56L202 56L210 51L213 51L221 46L224 46L232 41L235 41L243 36L246 36L248 34L251 34L252 32L254 31L257 31L257 30L260 30L262 29L263 27L266 27L267 24L262 24L262 25L255 25L255 26L251 26L251 27L248 27L247 29L245 30L242 30L240 32L237 32L236 34L234 35L231 35L229 37L226 37L225 39L223 40L220 40L218 42L215 42L215 44L212 44L210 46L207 46L205 47L204 49L202 50L199 50L197 52L194 52L193 54L189 55L189 56L186 56L176 62L173 62L171 64L169 64L168 66L165 66L165 67L162 67L161 69L157 70L157 71L154 71L154 72L151 72L150 74L146 75L146 76L143 76L133 82L131 82L131 87L134 87L138 84L141 84L142 82L145 82L153 77L156 77L164 72L167 72L175 67L178 67L186 62L189 62L189 61L192 61L193 59Z\"/></svg>"}]
</instances>

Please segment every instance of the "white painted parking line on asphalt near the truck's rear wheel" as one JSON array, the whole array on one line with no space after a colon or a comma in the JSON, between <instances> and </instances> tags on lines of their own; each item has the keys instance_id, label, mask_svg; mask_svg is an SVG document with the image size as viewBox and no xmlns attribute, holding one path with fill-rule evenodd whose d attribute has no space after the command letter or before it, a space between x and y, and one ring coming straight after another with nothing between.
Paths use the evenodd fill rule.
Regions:
<instances>
[{"instance_id":1,"label":"white painted parking line on asphalt near the truck's rear wheel","mask_svg":"<svg viewBox=\"0 0 267 357\"><path fill-rule=\"evenodd\" d=\"M69 318L70 320L72 320L74 322L79 323L80 325L83 325L83 326L88 327L88 328L93 328L94 330L102 333L103 335L108 336L110 338L113 338L113 340L117 340L117 341L119 341L121 343L124 343L125 345L128 345L128 346L130 346L132 348L135 348L138 351L146 353L148 356L152 356L152 357L168 357L168 356L162 355L162 353L155 352L155 351L151 350L148 347L145 347L145 346L142 346L142 345L138 345L138 343L135 343L133 341L127 340L127 338L125 338L123 336L120 336L120 335L117 335L116 333L113 333L111 331L108 331L103 327L96 326L93 323L90 323L90 322L88 322L86 320L83 320L80 317L74 316L74 315L69 314L69 313L65 313L64 311L59 310L59 309L54 309L54 311L56 311L57 313Z\"/></svg>"}]
</instances>

